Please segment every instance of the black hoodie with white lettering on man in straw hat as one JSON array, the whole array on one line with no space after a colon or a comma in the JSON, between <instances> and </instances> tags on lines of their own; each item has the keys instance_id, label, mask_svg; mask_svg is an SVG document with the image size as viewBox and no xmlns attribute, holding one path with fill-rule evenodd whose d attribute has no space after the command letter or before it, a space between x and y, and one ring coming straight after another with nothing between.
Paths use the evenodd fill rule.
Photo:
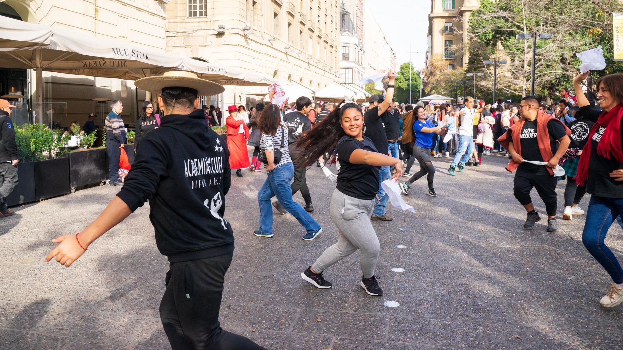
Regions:
<instances>
[{"instance_id":1,"label":"black hoodie with white lettering on man in straw hat","mask_svg":"<svg viewBox=\"0 0 623 350\"><path fill-rule=\"evenodd\" d=\"M156 245L170 262L217 257L234 251L224 219L230 175L227 146L204 111L167 115L141 139L117 196L132 212L150 202Z\"/></svg>"}]
</instances>

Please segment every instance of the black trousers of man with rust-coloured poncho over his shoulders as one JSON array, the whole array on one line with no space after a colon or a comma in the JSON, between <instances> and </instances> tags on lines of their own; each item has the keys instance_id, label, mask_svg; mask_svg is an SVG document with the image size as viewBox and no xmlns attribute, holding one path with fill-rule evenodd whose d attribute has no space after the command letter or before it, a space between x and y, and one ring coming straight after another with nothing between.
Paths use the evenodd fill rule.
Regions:
<instances>
[{"instance_id":1,"label":"black trousers of man with rust-coloured poncho over his shoulders","mask_svg":"<svg viewBox=\"0 0 623 350\"><path fill-rule=\"evenodd\" d=\"M530 191L534 187L541 199L545 203L545 209L548 216L556 215L556 206L558 199L556 197L556 184L558 177L551 176L545 167L539 173L529 173L527 171L518 170L515 173L515 187L513 194L522 206L527 206L532 202Z\"/></svg>"}]
</instances>

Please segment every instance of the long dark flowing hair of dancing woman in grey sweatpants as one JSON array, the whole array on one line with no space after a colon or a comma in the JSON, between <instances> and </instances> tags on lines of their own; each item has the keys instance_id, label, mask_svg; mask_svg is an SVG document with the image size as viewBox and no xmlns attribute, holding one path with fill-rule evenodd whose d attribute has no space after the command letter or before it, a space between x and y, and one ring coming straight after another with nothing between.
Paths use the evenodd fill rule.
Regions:
<instances>
[{"instance_id":1,"label":"long dark flowing hair of dancing woman in grey sweatpants","mask_svg":"<svg viewBox=\"0 0 623 350\"><path fill-rule=\"evenodd\" d=\"M342 105L343 101L339 105ZM344 129L340 125L342 115L346 110L354 108L361 113L363 111L356 103L345 103L341 108L335 108L318 125L308 131L297 141L296 148L302 154L298 159L302 159L302 166L308 167L316 163L316 159L329 154L329 158L335 156L335 146L340 138L345 136Z\"/></svg>"}]
</instances>

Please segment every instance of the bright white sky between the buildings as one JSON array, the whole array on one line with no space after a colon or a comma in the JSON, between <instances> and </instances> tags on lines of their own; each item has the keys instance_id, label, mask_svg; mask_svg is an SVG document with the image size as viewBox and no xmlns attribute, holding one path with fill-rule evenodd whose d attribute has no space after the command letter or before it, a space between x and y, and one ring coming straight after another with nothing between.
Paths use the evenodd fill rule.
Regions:
<instances>
[{"instance_id":1,"label":"bright white sky between the buildings","mask_svg":"<svg viewBox=\"0 0 623 350\"><path fill-rule=\"evenodd\" d=\"M430 0L364 0L381 26L396 54L396 69L409 62L414 69L424 67ZM411 44L411 49L409 49ZM415 53L419 52L419 53Z\"/></svg>"}]
</instances>

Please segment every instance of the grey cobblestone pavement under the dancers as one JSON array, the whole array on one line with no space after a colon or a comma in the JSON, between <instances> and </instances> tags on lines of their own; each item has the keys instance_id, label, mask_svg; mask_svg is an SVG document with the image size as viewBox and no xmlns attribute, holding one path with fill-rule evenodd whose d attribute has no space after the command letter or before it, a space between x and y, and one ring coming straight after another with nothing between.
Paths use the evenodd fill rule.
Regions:
<instances>
[{"instance_id":1,"label":"grey cobblestone pavement under the dancers","mask_svg":"<svg viewBox=\"0 0 623 350\"><path fill-rule=\"evenodd\" d=\"M383 297L359 286L358 253L325 273L330 290L299 277L337 238L327 210L334 183L319 168L310 169L308 184L324 232L312 242L301 239L291 215L275 214L273 239L254 237L266 175L232 177L226 219L236 250L223 328L269 349L620 349L623 306L599 306L611 281L582 245L584 218L559 220L555 234L544 222L521 229L525 212L505 162L485 156L482 167L450 177L449 159L435 159L439 197L426 196L422 179L406 197L416 214L391 208L394 221L373 222ZM168 265L156 250L147 205L71 268L43 261L53 237L82 229L116 191L91 187L0 220L0 349L169 348L158 316ZM559 215L563 191L561 183ZM621 257L620 227L607 243ZM392 272L396 267L405 271Z\"/></svg>"}]
</instances>

